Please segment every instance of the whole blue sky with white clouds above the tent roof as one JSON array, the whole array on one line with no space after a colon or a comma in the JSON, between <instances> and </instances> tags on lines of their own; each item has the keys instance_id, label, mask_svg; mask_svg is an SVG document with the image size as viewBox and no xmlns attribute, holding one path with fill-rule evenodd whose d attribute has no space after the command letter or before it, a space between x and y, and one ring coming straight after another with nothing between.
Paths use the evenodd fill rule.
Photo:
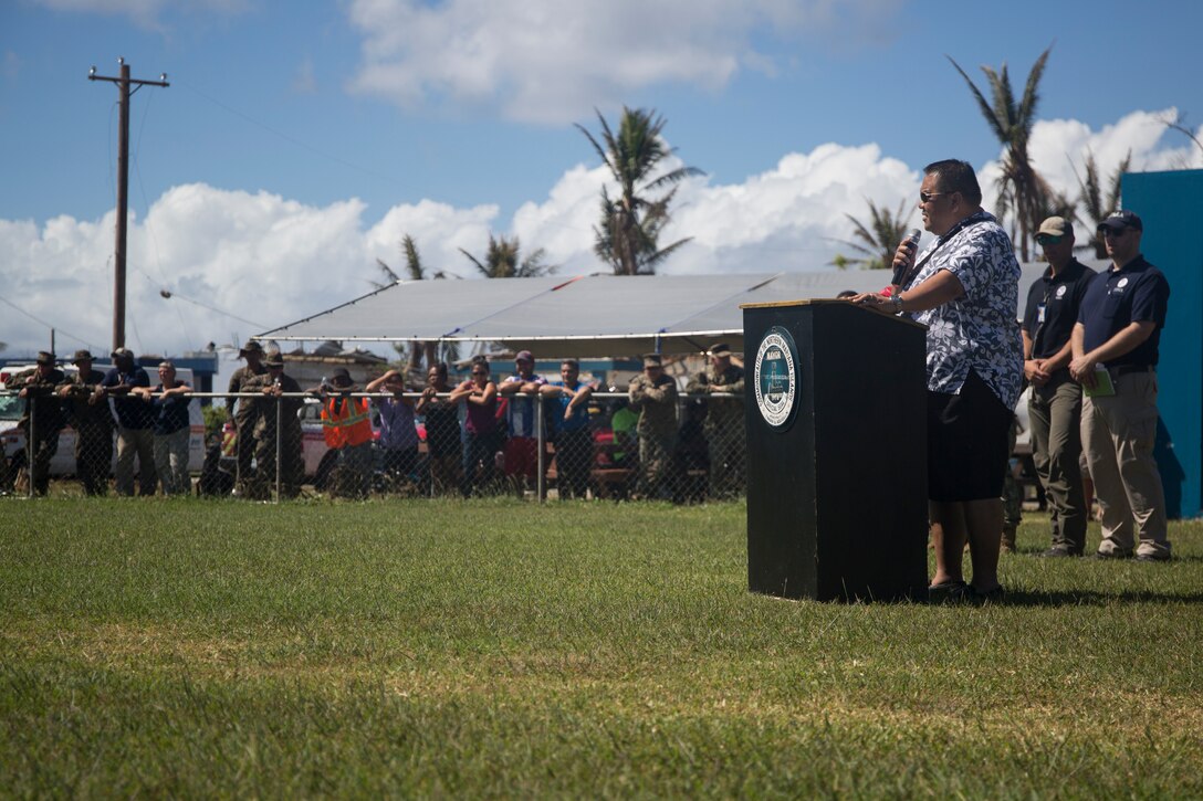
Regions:
<instances>
[{"instance_id":1,"label":"whole blue sky with white clouds above the tent roof","mask_svg":"<svg viewBox=\"0 0 1203 801\"><path fill-rule=\"evenodd\" d=\"M595 272L605 180L574 123L656 108L683 164L664 272L822 269L846 213L924 164L1000 148L946 55L1021 90L1044 48L1037 167L1203 166L1198 4L903 0L7 0L0 5L0 340L103 350L117 89L134 96L130 344L179 352L349 299L415 236L433 268L490 232ZM914 218L917 219L917 218ZM176 293L164 301L161 289ZM31 315L31 316L30 316Z\"/></svg>"}]
</instances>

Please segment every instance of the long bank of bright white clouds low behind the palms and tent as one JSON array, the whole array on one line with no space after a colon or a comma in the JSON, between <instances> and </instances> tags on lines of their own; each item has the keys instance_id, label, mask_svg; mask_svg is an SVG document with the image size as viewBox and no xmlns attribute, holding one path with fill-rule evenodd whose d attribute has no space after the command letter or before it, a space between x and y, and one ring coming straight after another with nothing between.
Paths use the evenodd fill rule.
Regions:
<instances>
[{"instance_id":1,"label":"long bank of bright white clouds low behind the palms and tent","mask_svg":"<svg viewBox=\"0 0 1203 801\"><path fill-rule=\"evenodd\" d=\"M1054 185L1067 190L1075 186L1068 165L1080 170L1088 152L1104 170L1128 148L1137 170L1203 167L1198 148L1166 134L1158 115L1130 114L1098 131L1072 120L1038 123L1033 159ZM1158 147L1163 141L1171 147ZM991 170L996 165L979 174L988 194ZM377 259L402 272L399 243L407 233L431 271L464 278L474 278L474 271L460 248L482 254L490 232L517 235L525 253L545 248L547 261L562 266L561 274L604 272L593 254L593 225L608 178L604 167L574 166L512 220L498 219L491 204L455 208L425 200L396 206L374 224L365 221L366 206L356 198L313 207L268 192L176 186L130 227L128 340L138 351L178 354L352 299L380 280ZM774 170L739 184L691 179L680 188L664 242L693 242L662 272L820 269L836 253L847 253L838 243L852 235L845 214L864 219L869 198L891 210L900 202L913 208L918 184L917 167L884 156L876 144L790 153ZM988 208L991 202L988 197ZM0 297L58 326L60 351L87 345L103 352L111 332L112 250L112 214L94 221L59 216L41 227L0 220ZM161 289L174 297L164 299ZM10 308L0 314L0 340L10 352L45 348L48 339L47 327L29 316Z\"/></svg>"}]
</instances>

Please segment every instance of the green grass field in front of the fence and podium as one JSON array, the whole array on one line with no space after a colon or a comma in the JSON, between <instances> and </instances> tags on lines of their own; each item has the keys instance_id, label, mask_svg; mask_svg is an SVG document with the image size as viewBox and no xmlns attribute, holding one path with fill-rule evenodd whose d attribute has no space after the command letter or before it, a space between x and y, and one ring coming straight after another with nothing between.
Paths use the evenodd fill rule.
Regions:
<instances>
[{"instance_id":1,"label":"green grass field in front of the fence and podium","mask_svg":"<svg viewBox=\"0 0 1203 801\"><path fill-rule=\"evenodd\" d=\"M752 595L742 505L6 499L0 795L1203 796L1203 523L1045 528L966 609Z\"/></svg>"}]
</instances>

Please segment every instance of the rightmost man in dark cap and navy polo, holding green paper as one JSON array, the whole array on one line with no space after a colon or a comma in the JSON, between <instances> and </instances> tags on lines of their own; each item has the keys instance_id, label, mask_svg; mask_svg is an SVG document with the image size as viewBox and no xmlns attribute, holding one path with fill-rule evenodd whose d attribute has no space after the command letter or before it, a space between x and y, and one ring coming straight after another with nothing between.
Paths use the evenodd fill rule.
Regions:
<instances>
[{"instance_id":1,"label":"rightmost man in dark cap and navy polo, holding green paper","mask_svg":"<svg viewBox=\"0 0 1203 801\"><path fill-rule=\"evenodd\" d=\"M1169 284L1140 255L1144 225L1115 212L1098 226L1112 268L1098 275L1073 327L1069 374L1085 387L1081 443L1102 511L1095 554L1142 562L1169 559L1166 499L1152 458L1157 432L1157 345ZM1133 527L1139 541L1133 540Z\"/></svg>"}]
</instances>

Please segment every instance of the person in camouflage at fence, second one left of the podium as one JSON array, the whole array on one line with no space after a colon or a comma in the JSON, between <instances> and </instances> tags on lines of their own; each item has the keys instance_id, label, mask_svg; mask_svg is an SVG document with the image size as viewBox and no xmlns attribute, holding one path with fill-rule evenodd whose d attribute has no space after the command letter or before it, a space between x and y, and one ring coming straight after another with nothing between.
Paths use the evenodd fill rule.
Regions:
<instances>
[{"instance_id":1,"label":"person in camouflage at fence, second one left of the podium","mask_svg":"<svg viewBox=\"0 0 1203 801\"><path fill-rule=\"evenodd\" d=\"M677 431L676 381L664 374L658 354L644 357L644 374L630 382L630 403L639 409L639 492L670 497L672 446Z\"/></svg>"}]
</instances>

